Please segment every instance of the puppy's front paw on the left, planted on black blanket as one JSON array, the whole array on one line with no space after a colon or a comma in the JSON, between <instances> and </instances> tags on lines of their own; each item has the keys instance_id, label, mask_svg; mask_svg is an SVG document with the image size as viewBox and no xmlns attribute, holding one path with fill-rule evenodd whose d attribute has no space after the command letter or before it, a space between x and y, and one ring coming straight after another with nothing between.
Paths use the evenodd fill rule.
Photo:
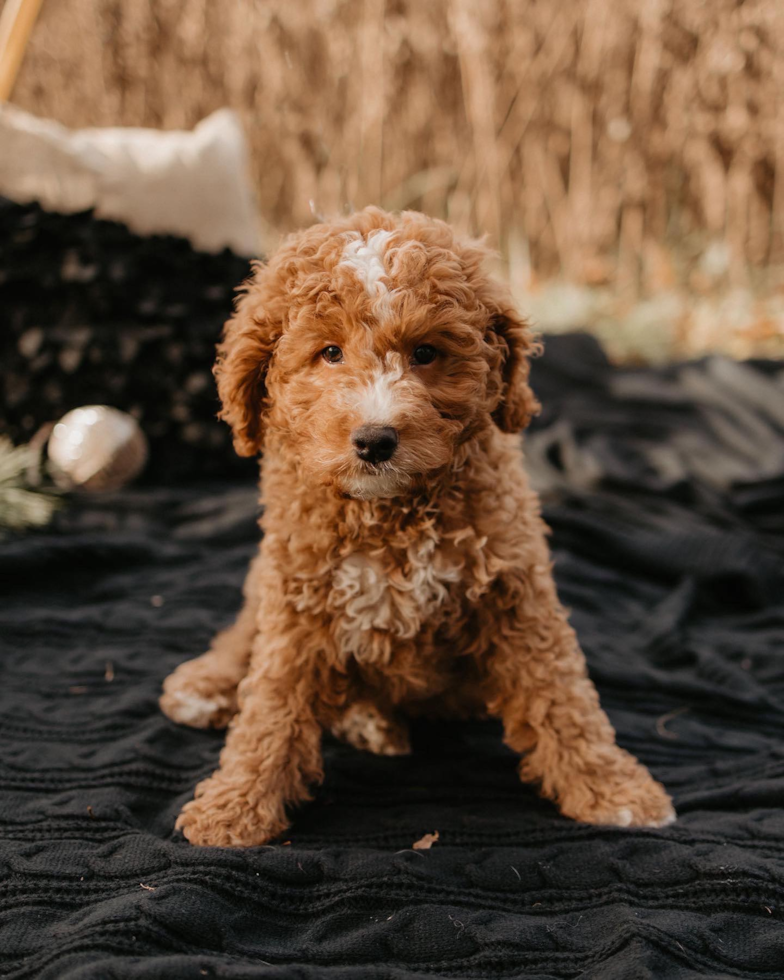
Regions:
<instances>
[{"instance_id":1,"label":"puppy's front paw on the left, planted on black blanket","mask_svg":"<svg viewBox=\"0 0 784 980\"><path fill-rule=\"evenodd\" d=\"M221 774L205 779L186 803L175 828L191 844L203 847L255 847L277 837L288 826L283 805L272 798L261 803L258 787L233 784Z\"/></svg>"}]
</instances>

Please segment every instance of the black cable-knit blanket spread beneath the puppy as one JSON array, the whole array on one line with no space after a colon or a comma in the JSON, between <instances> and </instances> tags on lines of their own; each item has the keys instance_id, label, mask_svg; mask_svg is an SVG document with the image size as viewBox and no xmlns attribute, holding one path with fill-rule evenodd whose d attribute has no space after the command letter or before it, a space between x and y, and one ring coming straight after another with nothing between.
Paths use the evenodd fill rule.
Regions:
<instances>
[{"instance_id":1,"label":"black cable-knit blanket spread beneath the puppy","mask_svg":"<svg viewBox=\"0 0 784 980\"><path fill-rule=\"evenodd\" d=\"M256 493L77 500L0 544L0 976L784 976L784 365L620 371L573 336L535 386L560 593L677 823L570 822L497 725L422 723L409 758L327 741L285 840L191 847L223 736L156 698L238 607Z\"/></svg>"}]
</instances>

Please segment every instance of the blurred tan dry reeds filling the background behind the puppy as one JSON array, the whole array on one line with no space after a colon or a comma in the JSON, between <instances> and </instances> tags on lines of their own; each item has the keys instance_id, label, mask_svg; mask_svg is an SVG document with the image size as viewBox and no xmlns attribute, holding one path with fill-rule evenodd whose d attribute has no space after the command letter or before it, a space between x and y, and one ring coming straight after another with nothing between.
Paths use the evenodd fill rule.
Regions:
<instances>
[{"instance_id":1,"label":"blurred tan dry reeds filling the background behind the puppy","mask_svg":"<svg viewBox=\"0 0 784 980\"><path fill-rule=\"evenodd\" d=\"M44 2L13 101L237 109L271 235L380 203L487 232L621 358L784 351L781 0Z\"/></svg>"}]
</instances>

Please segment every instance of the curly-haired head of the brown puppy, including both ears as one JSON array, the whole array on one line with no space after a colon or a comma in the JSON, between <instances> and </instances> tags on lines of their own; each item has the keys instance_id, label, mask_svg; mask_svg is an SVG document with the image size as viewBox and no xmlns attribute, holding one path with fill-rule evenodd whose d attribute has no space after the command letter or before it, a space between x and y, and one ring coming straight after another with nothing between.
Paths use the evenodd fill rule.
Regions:
<instances>
[{"instance_id":1,"label":"curly-haired head of the brown puppy, including both ears","mask_svg":"<svg viewBox=\"0 0 784 980\"><path fill-rule=\"evenodd\" d=\"M306 479L392 497L488 425L522 429L535 344L486 256L441 221L376 208L290 237L218 348L237 451L274 443Z\"/></svg>"}]
</instances>

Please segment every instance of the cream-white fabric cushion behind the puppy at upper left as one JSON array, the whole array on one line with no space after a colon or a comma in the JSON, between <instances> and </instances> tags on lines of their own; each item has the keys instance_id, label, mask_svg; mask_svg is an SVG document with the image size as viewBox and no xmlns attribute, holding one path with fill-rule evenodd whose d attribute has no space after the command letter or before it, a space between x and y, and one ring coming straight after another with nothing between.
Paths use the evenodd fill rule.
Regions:
<instances>
[{"instance_id":1,"label":"cream-white fabric cushion behind the puppy at upper left","mask_svg":"<svg viewBox=\"0 0 784 980\"><path fill-rule=\"evenodd\" d=\"M0 195L50 211L94 208L141 234L199 249L262 248L237 114L219 109L192 131L67 129L0 105Z\"/></svg>"}]
</instances>

